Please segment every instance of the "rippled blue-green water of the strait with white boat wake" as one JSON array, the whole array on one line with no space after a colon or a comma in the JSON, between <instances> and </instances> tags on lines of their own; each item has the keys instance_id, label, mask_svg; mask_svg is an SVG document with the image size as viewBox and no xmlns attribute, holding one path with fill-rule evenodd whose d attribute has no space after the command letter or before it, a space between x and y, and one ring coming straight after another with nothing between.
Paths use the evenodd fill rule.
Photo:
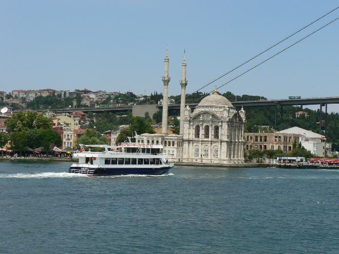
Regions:
<instances>
[{"instance_id":1,"label":"rippled blue-green water of the strait with white boat wake","mask_svg":"<svg viewBox=\"0 0 339 254\"><path fill-rule=\"evenodd\" d=\"M0 162L0 253L339 253L339 170L69 165Z\"/></svg>"}]
</instances>

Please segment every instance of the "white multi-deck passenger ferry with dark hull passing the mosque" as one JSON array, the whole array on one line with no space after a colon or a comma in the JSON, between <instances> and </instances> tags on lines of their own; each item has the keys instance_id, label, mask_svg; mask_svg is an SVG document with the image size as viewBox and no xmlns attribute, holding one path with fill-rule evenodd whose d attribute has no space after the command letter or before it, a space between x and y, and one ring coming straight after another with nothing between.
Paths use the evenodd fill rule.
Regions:
<instances>
[{"instance_id":1,"label":"white multi-deck passenger ferry with dark hull passing the mosque","mask_svg":"<svg viewBox=\"0 0 339 254\"><path fill-rule=\"evenodd\" d=\"M103 151L85 151L85 147L100 147ZM122 174L165 174L174 167L168 164L166 153L161 144L121 143L119 146L80 145L80 151L74 152L69 173L87 175L122 175Z\"/></svg>"}]
</instances>

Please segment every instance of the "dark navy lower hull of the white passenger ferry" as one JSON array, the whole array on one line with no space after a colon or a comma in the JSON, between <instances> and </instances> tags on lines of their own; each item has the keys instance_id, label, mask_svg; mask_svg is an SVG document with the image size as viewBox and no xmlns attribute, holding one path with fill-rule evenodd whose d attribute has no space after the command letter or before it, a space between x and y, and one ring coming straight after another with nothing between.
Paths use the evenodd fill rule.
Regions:
<instances>
[{"instance_id":1,"label":"dark navy lower hull of the white passenger ferry","mask_svg":"<svg viewBox=\"0 0 339 254\"><path fill-rule=\"evenodd\" d=\"M69 173L82 173L93 176L103 175L127 175L127 174L149 174L161 175L166 174L170 170L170 166L161 168L84 168L71 166Z\"/></svg>"}]
</instances>

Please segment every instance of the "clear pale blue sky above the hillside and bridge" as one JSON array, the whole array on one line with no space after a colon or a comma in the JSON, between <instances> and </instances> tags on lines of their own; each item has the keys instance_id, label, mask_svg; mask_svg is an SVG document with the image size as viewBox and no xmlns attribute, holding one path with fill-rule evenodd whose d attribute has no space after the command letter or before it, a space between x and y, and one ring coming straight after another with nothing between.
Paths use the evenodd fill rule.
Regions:
<instances>
[{"instance_id":1,"label":"clear pale blue sky above the hillside and bridge","mask_svg":"<svg viewBox=\"0 0 339 254\"><path fill-rule=\"evenodd\" d=\"M338 6L337 1L0 0L0 90L191 93ZM202 91L210 92L339 16L339 9ZM339 20L219 89L339 96ZM317 108L317 107L316 107ZM339 105L329 105L339 112Z\"/></svg>"}]
</instances>

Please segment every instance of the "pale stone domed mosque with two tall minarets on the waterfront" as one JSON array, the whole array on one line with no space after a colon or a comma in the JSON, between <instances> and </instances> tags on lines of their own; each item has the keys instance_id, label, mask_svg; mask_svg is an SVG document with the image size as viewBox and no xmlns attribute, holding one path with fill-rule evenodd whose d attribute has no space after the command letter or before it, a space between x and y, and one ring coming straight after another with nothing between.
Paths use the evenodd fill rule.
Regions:
<instances>
[{"instance_id":1,"label":"pale stone domed mosque with two tall minarets on the waterfront","mask_svg":"<svg viewBox=\"0 0 339 254\"><path fill-rule=\"evenodd\" d=\"M140 143L162 144L170 162L243 163L245 111L237 111L224 96L214 93L204 97L192 111L185 107L186 61L182 62L180 134L167 134L168 117L168 48L165 55L165 71L162 81L163 111L162 133L143 133Z\"/></svg>"}]
</instances>

